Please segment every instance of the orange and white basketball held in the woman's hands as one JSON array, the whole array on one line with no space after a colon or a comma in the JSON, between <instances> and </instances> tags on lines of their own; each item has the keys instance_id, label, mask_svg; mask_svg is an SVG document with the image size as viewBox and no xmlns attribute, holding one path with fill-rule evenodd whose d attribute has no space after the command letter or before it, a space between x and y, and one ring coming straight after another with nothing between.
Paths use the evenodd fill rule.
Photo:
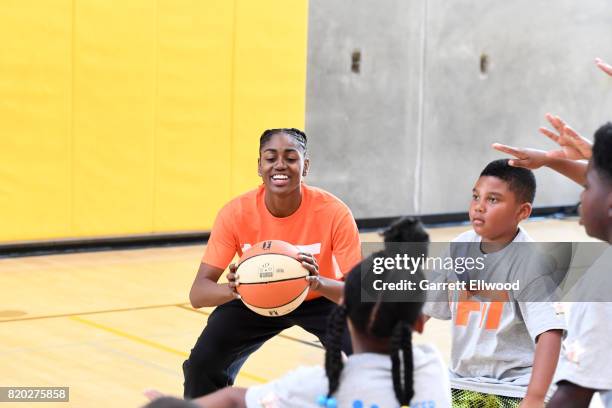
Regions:
<instances>
[{"instance_id":1,"label":"orange and white basketball held in the woman's hands","mask_svg":"<svg viewBox=\"0 0 612 408\"><path fill-rule=\"evenodd\" d=\"M238 261L238 293L242 302L262 316L283 316L295 310L308 294L308 270L299 250L284 241L262 241Z\"/></svg>"}]
</instances>

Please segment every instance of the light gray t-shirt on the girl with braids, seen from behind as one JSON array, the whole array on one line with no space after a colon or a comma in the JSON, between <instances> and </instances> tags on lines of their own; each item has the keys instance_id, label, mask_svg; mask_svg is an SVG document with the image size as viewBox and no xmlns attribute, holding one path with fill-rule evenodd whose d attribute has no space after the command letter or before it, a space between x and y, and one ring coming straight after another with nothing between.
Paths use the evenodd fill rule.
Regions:
<instances>
[{"instance_id":1,"label":"light gray t-shirt on the girl with braids, seen from behind","mask_svg":"<svg viewBox=\"0 0 612 408\"><path fill-rule=\"evenodd\" d=\"M451 406L450 384L438 351L430 345L412 347L414 397L411 406L446 408ZM328 381L322 367L302 367L267 384L250 387L248 408L317 408L317 398L327 394ZM334 394L338 407L399 407L393 390L391 358L384 354L360 353L350 356L342 370L340 386Z\"/></svg>"}]
</instances>

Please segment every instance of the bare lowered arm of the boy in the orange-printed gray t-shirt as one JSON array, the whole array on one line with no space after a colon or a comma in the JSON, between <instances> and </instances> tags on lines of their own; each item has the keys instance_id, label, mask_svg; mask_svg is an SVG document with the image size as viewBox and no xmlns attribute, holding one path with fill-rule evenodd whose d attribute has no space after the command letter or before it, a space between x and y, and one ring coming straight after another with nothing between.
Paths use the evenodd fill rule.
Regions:
<instances>
[{"instance_id":1,"label":"bare lowered arm of the boy in the orange-printed gray t-shirt","mask_svg":"<svg viewBox=\"0 0 612 408\"><path fill-rule=\"evenodd\" d=\"M536 339L533 371L521 408L544 406L544 398L555 374L561 352L562 333L561 330L548 330Z\"/></svg>"}]
</instances>

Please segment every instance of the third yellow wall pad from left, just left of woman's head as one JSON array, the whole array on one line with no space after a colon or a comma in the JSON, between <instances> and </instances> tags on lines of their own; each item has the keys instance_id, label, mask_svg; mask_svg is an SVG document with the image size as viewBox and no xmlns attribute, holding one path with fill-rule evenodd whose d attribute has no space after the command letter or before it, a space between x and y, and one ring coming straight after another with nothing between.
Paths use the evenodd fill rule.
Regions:
<instances>
[{"instance_id":1,"label":"third yellow wall pad from left, just left of woman's head","mask_svg":"<svg viewBox=\"0 0 612 408\"><path fill-rule=\"evenodd\" d=\"M209 229L230 198L233 2L162 0L159 33L154 228Z\"/></svg>"}]
</instances>

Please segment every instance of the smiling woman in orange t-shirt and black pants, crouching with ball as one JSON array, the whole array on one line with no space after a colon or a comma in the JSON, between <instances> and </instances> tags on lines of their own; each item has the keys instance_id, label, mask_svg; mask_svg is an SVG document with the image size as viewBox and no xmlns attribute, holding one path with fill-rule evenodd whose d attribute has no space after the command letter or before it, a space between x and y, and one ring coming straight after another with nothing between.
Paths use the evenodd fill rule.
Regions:
<instances>
[{"instance_id":1,"label":"smiling woman in orange t-shirt and black pants, crouching with ball","mask_svg":"<svg viewBox=\"0 0 612 408\"><path fill-rule=\"evenodd\" d=\"M348 209L332 194L303 183L310 161L306 135L297 129L266 130L260 137L258 171L263 185L226 204L217 215L189 298L195 308L217 306L183 364L184 396L196 398L232 385L247 357L294 325L323 344L327 316L338 303L343 276L361 260L359 231ZM291 313L260 316L238 300L233 257L263 240L282 240L302 251L310 293ZM227 284L217 281L228 267ZM348 336L344 350L350 352Z\"/></svg>"}]
</instances>

